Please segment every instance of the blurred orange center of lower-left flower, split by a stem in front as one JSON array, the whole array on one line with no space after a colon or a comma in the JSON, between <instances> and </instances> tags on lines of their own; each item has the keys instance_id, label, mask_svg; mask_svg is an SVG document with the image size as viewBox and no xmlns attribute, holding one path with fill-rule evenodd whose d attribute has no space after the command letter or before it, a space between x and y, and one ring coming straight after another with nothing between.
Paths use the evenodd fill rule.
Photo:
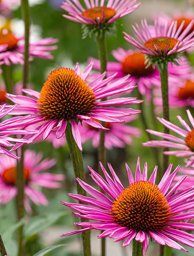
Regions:
<instances>
[{"instance_id":1,"label":"blurred orange center of lower-left flower, split by a stem in front","mask_svg":"<svg viewBox=\"0 0 194 256\"><path fill-rule=\"evenodd\" d=\"M9 185L16 184L16 180L17 180L16 166L5 169L1 175L5 183ZM24 168L24 177L25 177L25 182L27 183L30 178L30 170L28 168Z\"/></svg>"}]
</instances>

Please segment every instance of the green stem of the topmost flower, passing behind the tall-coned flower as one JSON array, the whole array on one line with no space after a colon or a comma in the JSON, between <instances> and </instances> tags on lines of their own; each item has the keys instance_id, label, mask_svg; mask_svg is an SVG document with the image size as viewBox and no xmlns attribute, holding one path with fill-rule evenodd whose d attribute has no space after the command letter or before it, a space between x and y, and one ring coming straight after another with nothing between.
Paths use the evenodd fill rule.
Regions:
<instances>
[{"instance_id":1,"label":"green stem of the topmost flower, passing behind the tall-coned flower","mask_svg":"<svg viewBox=\"0 0 194 256\"><path fill-rule=\"evenodd\" d=\"M98 46L98 56L100 59L101 65L101 73L107 71L107 40L106 40L106 31L102 33L98 33L96 37L96 42ZM104 101L106 98L103 99ZM102 101L102 100L101 100ZM105 122L101 121L102 126L106 126ZM104 137L105 131L100 130L100 143L99 143L99 150L98 150L98 160L103 164L106 165L106 150L104 146ZM99 167L99 173L102 177L104 177L104 173L102 172L101 168ZM101 256L106 255L106 239L105 237L101 239Z\"/></svg>"}]
</instances>

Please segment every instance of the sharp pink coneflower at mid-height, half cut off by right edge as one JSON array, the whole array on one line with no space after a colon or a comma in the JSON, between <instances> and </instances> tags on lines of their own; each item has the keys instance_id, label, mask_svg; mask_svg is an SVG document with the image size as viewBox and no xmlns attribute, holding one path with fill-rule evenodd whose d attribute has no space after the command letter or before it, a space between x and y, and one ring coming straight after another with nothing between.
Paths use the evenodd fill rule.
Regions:
<instances>
[{"instance_id":1,"label":"sharp pink coneflower at mid-height, half cut off by right edge","mask_svg":"<svg viewBox=\"0 0 194 256\"><path fill-rule=\"evenodd\" d=\"M179 115L177 116L178 121L184 127L184 129L176 126L175 124L170 123L164 118L157 118L165 127L169 130L175 132L177 135L180 135L182 138L178 138L174 135L165 134L163 132L156 132L150 129L146 131L156 135L158 137L164 138L168 141L148 141L142 143L143 146L151 147L164 147L164 148L174 148L179 150L173 151L164 151L165 155L175 155L177 157L191 157L194 155L194 118L192 117L189 110L186 110L189 121L191 123L191 128Z\"/></svg>"}]
</instances>

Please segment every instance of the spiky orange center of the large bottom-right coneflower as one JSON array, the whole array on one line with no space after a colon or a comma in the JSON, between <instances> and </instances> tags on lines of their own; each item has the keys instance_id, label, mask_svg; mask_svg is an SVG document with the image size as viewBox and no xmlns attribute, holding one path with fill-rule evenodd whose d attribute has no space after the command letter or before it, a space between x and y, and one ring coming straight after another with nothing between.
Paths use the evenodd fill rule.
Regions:
<instances>
[{"instance_id":1,"label":"spiky orange center of the large bottom-right coneflower","mask_svg":"<svg viewBox=\"0 0 194 256\"><path fill-rule=\"evenodd\" d=\"M112 205L115 221L137 231L155 231L164 227L171 215L160 189L149 181L137 181L125 188Z\"/></svg>"}]
</instances>

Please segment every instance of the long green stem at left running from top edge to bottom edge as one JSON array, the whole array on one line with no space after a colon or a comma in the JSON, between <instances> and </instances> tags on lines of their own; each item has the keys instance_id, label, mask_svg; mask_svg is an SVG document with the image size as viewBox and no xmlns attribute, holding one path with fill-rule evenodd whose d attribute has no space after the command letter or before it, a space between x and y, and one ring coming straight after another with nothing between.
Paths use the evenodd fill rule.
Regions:
<instances>
[{"instance_id":1,"label":"long green stem at left running from top edge to bottom edge","mask_svg":"<svg viewBox=\"0 0 194 256\"><path fill-rule=\"evenodd\" d=\"M23 67L23 88L25 89L29 77L29 35L30 35L30 8L28 0L22 0L22 15L25 24L25 53L24 53L24 67ZM24 153L25 146L21 148L21 158L17 164L17 217L18 220L24 217ZM18 256L23 255L23 225L18 229Z\"/></svg>"}]
</instances>

